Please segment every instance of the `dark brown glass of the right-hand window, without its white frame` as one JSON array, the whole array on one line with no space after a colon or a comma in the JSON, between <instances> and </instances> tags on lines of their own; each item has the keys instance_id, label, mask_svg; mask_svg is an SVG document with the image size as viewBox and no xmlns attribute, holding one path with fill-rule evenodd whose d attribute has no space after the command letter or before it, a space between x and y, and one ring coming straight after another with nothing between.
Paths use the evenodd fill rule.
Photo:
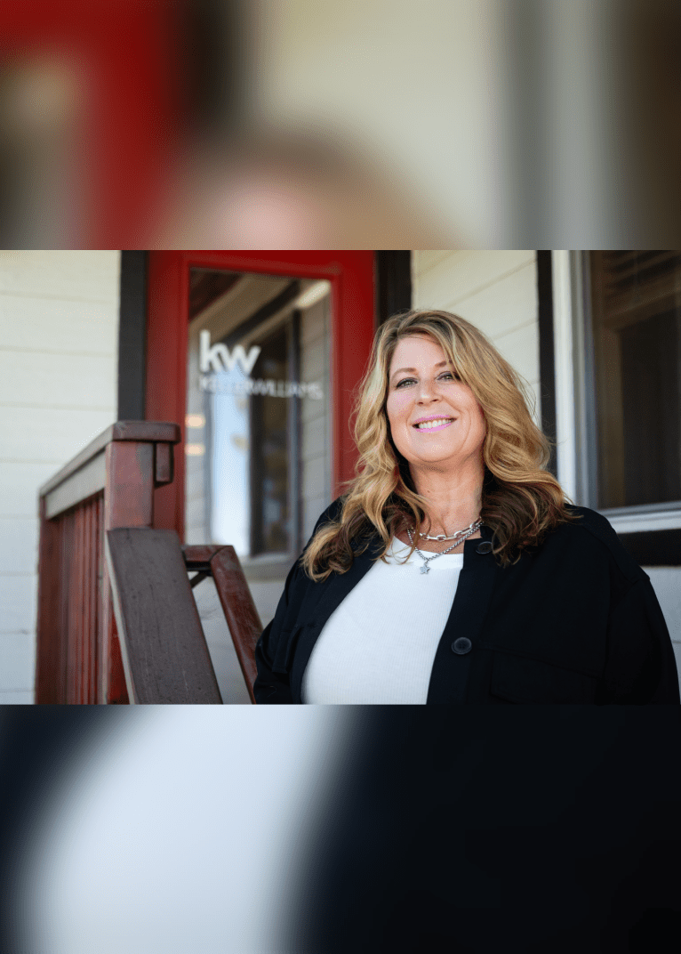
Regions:
<instances>
[{"instance_id":1,"label":"dark brown glass of the right-hand window, without its white frame","mask_svg":"<svg viewBox=\"0 0 681 954\"><path fill-rule=\"evenodd\" d=\"M591 506L669 508L681 501L681 253L590 252L588 269Z\"/></svg>"}]
</instances>

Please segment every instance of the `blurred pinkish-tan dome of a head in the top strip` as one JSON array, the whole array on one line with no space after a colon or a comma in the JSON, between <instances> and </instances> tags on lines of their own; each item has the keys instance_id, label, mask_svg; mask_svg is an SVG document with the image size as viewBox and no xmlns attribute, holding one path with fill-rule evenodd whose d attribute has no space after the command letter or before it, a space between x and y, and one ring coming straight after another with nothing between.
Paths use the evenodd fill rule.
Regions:
<instances>
[{"instance_id":1,"label":"blurred pinkish-tan dome of a head in the top strip","mask_svg":"<svg viewBox=\"0 0 681 954\"><path fill-rule=\"evenodd\" d=\"M275 132L191 162L154 248L365 249L457 245L399 184L337 135Z\"/></svg>"}]
</instances>

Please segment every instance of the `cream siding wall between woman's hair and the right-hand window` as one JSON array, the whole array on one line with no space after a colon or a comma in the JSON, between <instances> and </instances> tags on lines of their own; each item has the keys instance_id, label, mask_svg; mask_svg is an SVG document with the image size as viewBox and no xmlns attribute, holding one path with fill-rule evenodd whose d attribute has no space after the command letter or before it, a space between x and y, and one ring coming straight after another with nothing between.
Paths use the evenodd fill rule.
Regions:
<instances>
[{"instance_id":1,"label":"cream siding wall between woman's hair and the right-hand window","mask_svg":"<svg viewBox=\"0 0 681 954\"><path fill-rule=\"evenodd\" d=\"M414 251L412 305L442 308L480 328L531 384L539 406L536 252Z\"/></svg>"}]
</instances>

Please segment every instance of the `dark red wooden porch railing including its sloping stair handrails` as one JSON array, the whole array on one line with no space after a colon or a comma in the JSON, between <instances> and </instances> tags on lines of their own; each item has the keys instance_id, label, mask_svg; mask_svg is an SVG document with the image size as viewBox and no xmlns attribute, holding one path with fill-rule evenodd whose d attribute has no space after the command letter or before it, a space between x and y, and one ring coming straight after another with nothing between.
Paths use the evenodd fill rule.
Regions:
<instances>
[{"instance_id":1,"label":"dark red wooden porch railing including its sloping stair handrails","mask_svg":"<svg viewBox=\"0 0 681 954\"><path fill-rule=\"evenodd\" d=\"M207 576L255 701L262 627L236 553L154 527L179 440L121 421L41 488L37 702L221 703L192 594Z\"/></svg>"}]
</instances>

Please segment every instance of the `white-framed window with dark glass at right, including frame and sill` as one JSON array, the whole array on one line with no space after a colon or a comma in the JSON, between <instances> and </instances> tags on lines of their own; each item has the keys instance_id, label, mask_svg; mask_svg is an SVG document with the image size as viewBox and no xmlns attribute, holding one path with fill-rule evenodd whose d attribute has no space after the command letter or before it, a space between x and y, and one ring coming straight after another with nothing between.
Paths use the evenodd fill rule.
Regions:
<instances>
[{"instance_id":1,"label":"white-framed window with dark glass at right, including frame and sill","mask_svg":"<svg viewBox=\"0 0 681 954\"><path fill-rule=\"evenodd\" d=\"M551 286L558 480L642 567L680 566L681 253L553 251Z\"/></svg>"}]
</instances>

